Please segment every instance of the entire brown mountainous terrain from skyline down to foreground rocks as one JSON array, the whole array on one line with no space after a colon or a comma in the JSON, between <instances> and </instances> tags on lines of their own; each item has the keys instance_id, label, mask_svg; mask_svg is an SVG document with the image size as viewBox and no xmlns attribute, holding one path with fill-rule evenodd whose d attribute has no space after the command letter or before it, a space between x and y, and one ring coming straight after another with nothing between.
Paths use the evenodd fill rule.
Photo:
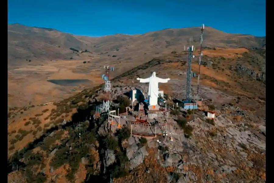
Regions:
<instances>
[{"instance_id":1,"label":"entire brown mountainous terrain from skyline down to foreground rocks","mask_svg":"<svg viewBox=\"0 0 274 183\"><path fill-rule=\"evenodd\" d=\"M199 34L199 28L185 28L89 38L8 25L8 181L76 183L103 180L111 174L116 175L114 183L179 183L187 177L188 182L265 182L265 37L206 27L202 65L199 69L196 49L191 70L195 74L200 70L203 100L199 109L214 111L216 118L205 119L200 111L185 115L177 108L170 110L168 118L157 119L158 133L165 124L172 132L161 146L154 143L155 138L133 138L124 128L114 137L110 132L118 127L115 119L109 130L112 123L107 115L93 115L107 96L101 78L105 64L115 68L111 73L113 102L131 87L146 91L148 84L136 77L146 78L156 71L159 77L171 78L159 83L159 89L167 94L167 105L175 106L172 99L184 99L186 91L184 45L191 38L191 45L198 46ZM63 80L73 82L65 85ZM79 85L73 85L76 80ZM197 84L196 75L192 95ZM63 125L64 119L72 123ZM118 123L128 125L125 119ZM138 128L134 130L139 133ZM140 164L129 172L127 167L137 158ZM107 159L114 162L104 168Z\"/></svg>"}]
</instances>

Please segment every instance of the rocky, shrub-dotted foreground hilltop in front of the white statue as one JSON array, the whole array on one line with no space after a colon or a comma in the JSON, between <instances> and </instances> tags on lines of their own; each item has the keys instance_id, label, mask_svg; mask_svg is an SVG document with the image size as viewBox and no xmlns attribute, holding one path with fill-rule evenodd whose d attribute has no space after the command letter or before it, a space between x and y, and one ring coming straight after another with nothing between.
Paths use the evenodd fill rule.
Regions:
<instances>
[{"instance_id":1,"label":"rocky, shrub-dotted foreground hilltop in front of the white statue","mask_svg":"<svg viewBox=\"0 0 274 183\"><path fill-rule=\"evenodd\" d=\"M120 105L128 89L114 88L118 97L114 100ZM82 94L87 104L78 107L71 122L56 124L39 142L10 159L10 180L27 175L26 182L92 182L94 178L117 183L265 182L263 117L233 104L214 106L212 100L205 100L202 107L214 108L214 120L195 111L187 122L181 110L171 109L168 136L145 139L131 135L127 127L111 126L104 115L95 115L100 90ZM55 105L60 108L65 102ZM79 121L83 121L81 128ZM19 174L12 172L16 164Z\"/></svg>"}]
</instances>

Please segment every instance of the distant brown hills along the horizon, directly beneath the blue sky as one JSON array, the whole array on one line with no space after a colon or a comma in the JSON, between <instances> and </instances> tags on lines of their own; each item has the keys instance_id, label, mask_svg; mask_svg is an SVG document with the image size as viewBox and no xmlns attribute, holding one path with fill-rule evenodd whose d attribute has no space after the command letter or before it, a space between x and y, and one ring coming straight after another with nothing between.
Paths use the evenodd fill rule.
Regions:
<instances>
[{"instance_id":1,"label":"distant brown hills along the horizon, directly beneath the blue sky","mask_svg":"<svg viewBox=\"0 0 274 183\"><path fill-rule=\"evenodd\" d=\"M100 55L136 56L157 55L173 50L181 51L184 45L199 45L200 28L165 29L142 35L115 34L98 38L76 36L51 28L8 25L8 65L20 65L22 61L48 61L57 59L83 59L78 52L89 51ZM228 34L206 27L204 46L261 48L265 37ZM113 53L114 52L114 53Z\"/></svg>"}]
</instances>

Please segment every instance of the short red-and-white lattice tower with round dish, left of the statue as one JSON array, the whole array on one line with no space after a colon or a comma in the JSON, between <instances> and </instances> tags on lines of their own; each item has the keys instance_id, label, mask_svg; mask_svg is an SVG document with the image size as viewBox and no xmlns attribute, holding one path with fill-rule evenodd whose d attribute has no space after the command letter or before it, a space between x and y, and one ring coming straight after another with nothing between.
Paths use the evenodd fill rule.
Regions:
<instances>
[{"instance_id":1,"label":"short red-and-white lattice tower with round dish, left of the statue","mask_svg":"<svg viewBox=\"0 0 274 183\"><path fill-rule=\"evenodd\" d=\"M107 93L106 99L103 101L102 112L107 112L111 104L111 81L110 72L114 71L114 67L104 66L105 74L102 75L102 79L105 81L104 91Z\"/></svg>"}]
</instances>

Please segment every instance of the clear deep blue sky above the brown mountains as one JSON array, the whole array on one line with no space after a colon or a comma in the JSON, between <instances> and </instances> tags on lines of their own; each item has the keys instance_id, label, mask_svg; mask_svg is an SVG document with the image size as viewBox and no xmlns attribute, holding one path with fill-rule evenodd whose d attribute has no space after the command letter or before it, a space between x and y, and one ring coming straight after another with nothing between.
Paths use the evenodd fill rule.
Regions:
<instances>
[{"instance_id":1,"label":"clear deep blue sky above the brown mountains","mask_svg":"<svg viewBox=\"0 0 274 183\"><path fill-rule=\"evenodd\" d=\"M8 0L8 24L77 35L143 34L202 23L265 36L265 0Z\"/></svg>"}]
</instances>

